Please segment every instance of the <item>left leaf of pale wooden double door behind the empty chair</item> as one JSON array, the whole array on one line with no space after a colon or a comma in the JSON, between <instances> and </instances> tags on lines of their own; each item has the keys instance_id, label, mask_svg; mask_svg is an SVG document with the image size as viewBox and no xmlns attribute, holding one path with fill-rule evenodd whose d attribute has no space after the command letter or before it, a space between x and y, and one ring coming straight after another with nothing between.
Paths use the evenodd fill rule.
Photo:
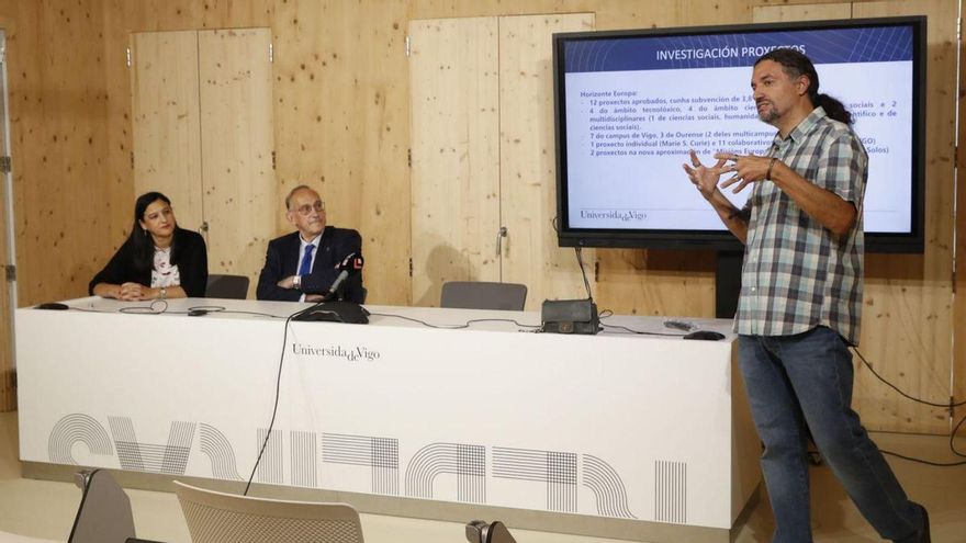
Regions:
<instances>
[{"instance_id":1,"label":"left leaf of pale wooden double door behind the empty chair","mask_svg":"<svg viewBox=\"0 0 966 543\"><path fill-rule=\"evenodd\" d=\"M499 281L496 18L409 22L413 304Z\"/></svg>"}]
</instances>

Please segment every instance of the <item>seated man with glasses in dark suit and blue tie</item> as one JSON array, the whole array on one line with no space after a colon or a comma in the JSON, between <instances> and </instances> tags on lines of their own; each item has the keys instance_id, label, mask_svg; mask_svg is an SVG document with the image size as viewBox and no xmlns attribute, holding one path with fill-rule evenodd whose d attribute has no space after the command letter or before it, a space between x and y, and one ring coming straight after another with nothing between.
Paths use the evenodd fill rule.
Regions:
<instances>
[{"instance_id":1,"label":"seated man with glasses in dark suit and blue tie","mask_svg":"<svg viewBox=\"0 0 966 543\"><path fill-rule=\"evenodd\" d=\"M265 268L258 276L258 299L318 302L339 274L339 264L361 254L362 238L356 230L325 224L325 202L306 185L285 196L285 218L295 231L268 244ZM362 274L342 282L341 298L364 302Z\"/></svg>"}]
</instances>

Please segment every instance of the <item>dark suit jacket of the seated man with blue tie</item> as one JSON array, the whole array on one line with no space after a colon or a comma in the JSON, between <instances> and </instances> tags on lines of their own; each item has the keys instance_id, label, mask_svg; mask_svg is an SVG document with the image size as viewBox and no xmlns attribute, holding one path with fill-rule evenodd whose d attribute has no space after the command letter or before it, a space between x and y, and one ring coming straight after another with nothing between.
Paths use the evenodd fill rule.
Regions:
<instances>
[{"instance_id":1,"label":"dark suit jacket of the seated man with blue tie","mask_svg":"<svg viewBox=\"0 0 966 543\"><path fill-rule=\"evenodd\" d=\"M293 231L268 244L265 268L258 276L258 299L297 302L302 294L324 294L339 274L336 264L350 253L362 250L362 237L356 230L326 226L318 240L312 273L302 276L302 290L282 289L279 281L295 275L299 271L299 233ZM339 287L340 297L349 302L362 303L362 274L350 276Z\"/></svg>"}]
</instances>

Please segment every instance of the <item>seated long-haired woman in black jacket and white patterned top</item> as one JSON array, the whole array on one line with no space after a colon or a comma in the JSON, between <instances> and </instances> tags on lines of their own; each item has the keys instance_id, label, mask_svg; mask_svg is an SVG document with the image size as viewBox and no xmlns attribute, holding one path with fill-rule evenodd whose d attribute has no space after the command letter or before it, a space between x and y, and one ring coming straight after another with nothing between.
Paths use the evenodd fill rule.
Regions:
<instances>
[{"instance_id":1,"label":"seated long-haired woman in black jacket and white patterned top","mask_svg":"<svg viewBox=\"0 0 966 543\"><path fill-rule=\"evenodd\" d=\"M179 228L171 201L148 192L134 203L134 226L124 245L88 287L91 294L125 301L204 297L204 239Z\"/></svg>"}]
</instances>

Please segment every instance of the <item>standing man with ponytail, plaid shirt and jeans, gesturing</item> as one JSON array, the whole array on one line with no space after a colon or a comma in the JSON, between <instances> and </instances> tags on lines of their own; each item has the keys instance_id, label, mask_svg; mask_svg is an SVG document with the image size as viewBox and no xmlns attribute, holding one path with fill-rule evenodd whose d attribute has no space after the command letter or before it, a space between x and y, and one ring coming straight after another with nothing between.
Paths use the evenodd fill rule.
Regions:
<instances>
[{"instance_id":1,"label":"standing man with ponytail, plaid shirt and jeans, gesturing","mask_svg":"<svg viewBox=\"0 0 966 543\"><path fill-rule=\"evenodd\" d=\"M868 156L841 102L819 94L808 57L775 49L755 61L759 117L778 129L768 156L692 151L690 181L745 245L735 315L739 359L765 444L762 471L775 542L810 542L808 430L862 514L887 540L929 542L910 501L852 410L852 353L862 312L862 201ZM753 183L738 210L718 189Z\"/></svg>"}]
</instances>

